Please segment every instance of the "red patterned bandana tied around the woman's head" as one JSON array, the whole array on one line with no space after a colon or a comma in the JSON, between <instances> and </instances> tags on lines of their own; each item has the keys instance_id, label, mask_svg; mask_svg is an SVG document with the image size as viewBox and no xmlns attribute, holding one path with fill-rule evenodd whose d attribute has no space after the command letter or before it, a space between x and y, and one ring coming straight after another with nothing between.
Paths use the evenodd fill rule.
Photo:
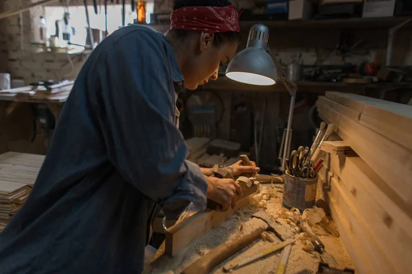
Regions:
<instances>
[{"instance_id":1,"label":"red patterned bandana tied around the woman's head","mask_svg":"<svg viewBox=\"0 0 412 274\"><path fill-rule=\"evenodd\" d=\"M227 7L185 7L174 10L170 16L171 29L196 32L240 32L239 12L235 5Z\"/></svg>"}]
</instances>

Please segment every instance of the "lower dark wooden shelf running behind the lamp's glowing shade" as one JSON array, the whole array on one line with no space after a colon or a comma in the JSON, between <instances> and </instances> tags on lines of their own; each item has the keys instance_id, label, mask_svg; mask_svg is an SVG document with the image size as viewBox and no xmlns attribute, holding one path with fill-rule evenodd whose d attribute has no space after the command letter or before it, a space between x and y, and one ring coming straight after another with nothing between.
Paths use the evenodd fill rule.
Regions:
<instances>
[{"instance_id":1,"label":"lower dark wooden shelf running behind the lamp's glowing shade","mask_svg":"<svg viewBox=\"0 0 412 274\"><path fill-rule=\"evenodd\" d=\"M296 82L298 92L312 92L323 94L328 91L341 91L341 92L353 92L364 93L365 89L397 89L406 88L412 89L412 84L409 83L370 83L370 84L348 84L342 82L309 82L299 81ZM225 76L218 78L216 81L209 81L205 86L201 86L201 90L238 90L238 91L256 91L256 92L287 92L286 88L281 83L277 83L274 86L253 86L249 84L243 84L228 79Z\"/></svg>"}]
</instances>

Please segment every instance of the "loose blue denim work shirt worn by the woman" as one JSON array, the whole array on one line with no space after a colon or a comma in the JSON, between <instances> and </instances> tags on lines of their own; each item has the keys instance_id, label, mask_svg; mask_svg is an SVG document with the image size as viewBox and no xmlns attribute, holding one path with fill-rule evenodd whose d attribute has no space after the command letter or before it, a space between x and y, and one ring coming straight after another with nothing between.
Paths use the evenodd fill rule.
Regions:
<instances>
[{"instance_id":1,"label":"loose blue denim work shirt worn by the woman","mask_svg":"<svg viewBox=\"0 0 412 274\"><path fill-rule=\"evenodd\" d=\"M0 234L0 273L141 273L155 205L174 219L207 182L175 126L172 46L144 26L84 64L30 197Z\"/></svg>"}]
</instances>

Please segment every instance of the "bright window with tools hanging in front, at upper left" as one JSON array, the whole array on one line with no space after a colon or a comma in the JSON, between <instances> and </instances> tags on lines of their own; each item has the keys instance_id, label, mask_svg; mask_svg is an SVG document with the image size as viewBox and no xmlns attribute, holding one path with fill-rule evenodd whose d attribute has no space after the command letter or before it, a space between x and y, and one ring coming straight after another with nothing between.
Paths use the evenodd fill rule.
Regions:
<instances>
[{"instance_id":1,"label":"bright window with tools hanging in front, at upper left","mask_svg":"<svg viewBox=\"0 0 412 274\"><path fill-rule=\"evenodd\" d=\"M150 14L153 13L153 3L146 4L146 23L150 23ZM87 7L89 11L90 26L94 29L106 29L104 16L104 5L98 7L98 14L95 14L93 5ZM71 36L71 42L78 45L85 45L87 39L87 20L86 12L83 5L71 5L65 7L45 7L45 18L47 25L47 37L56 34L56 21L62 20L65 12L69 12L71 27L75 29L76 34ZM137 18L136 11L132 12L130 5L125 6L125 23L133 24ZM122 26L122 5L107 5L107 30L111 34Z\"/></svg>"}]
</instances>

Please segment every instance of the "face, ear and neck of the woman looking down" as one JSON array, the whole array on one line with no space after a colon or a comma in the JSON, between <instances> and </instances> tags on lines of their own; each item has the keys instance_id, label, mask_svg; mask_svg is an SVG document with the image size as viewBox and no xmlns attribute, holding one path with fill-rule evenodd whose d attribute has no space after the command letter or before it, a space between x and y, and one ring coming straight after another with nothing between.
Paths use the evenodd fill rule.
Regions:
<instances>
[{"instance_id":1,"label":"face, ear and neck of the woman looking down","mask_svg":"<svg viewBox=\"0 0 412 274\"><path fill-rule=\"evenodd\" d=\"M219 67L229 63L236 54L237 42L225 42L216 47L213 40L214 34L201 33L198 42L194 43L194 55L185 62L182 71L187 89L195 90L209 79L218 79Z\"/></svg>"}]
</instances>

